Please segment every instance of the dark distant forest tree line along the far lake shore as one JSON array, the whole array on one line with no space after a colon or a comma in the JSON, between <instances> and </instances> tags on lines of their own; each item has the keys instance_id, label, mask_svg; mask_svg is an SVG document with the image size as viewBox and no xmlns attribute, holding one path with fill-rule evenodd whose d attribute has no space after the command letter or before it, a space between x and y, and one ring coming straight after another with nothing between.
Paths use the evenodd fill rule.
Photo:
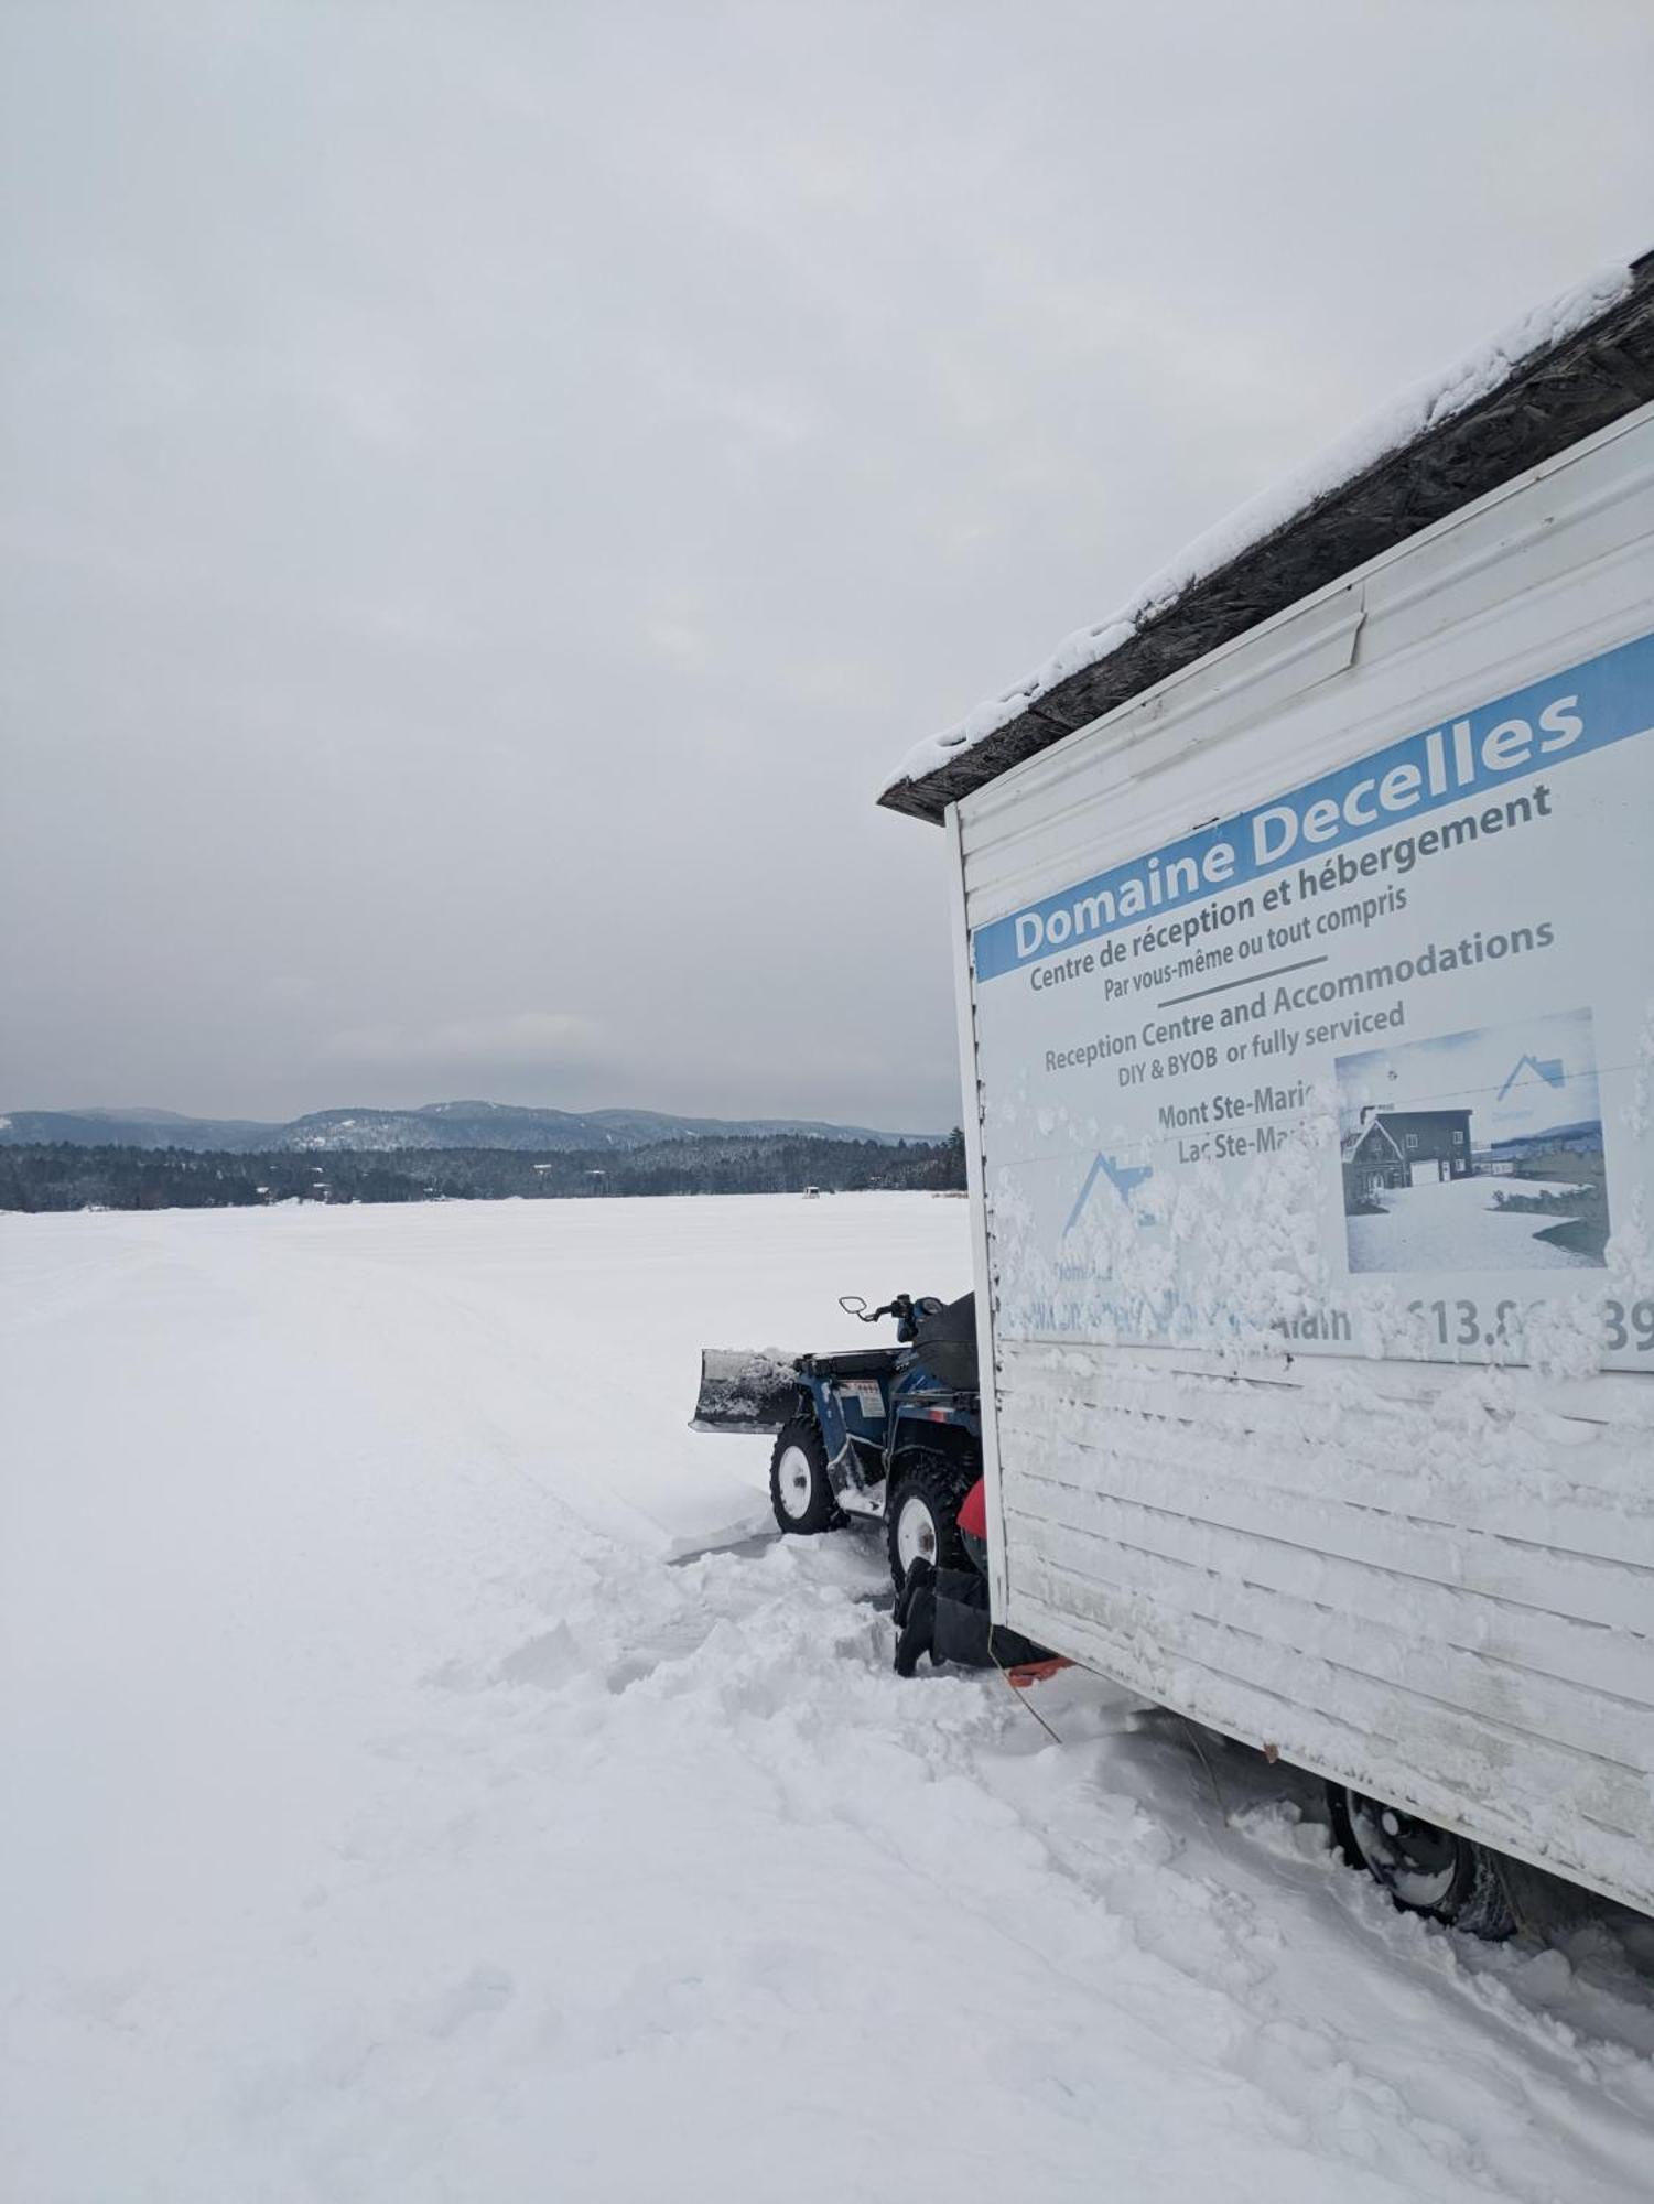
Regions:
<instances>
[{"instance_id":1,"label":"dark distant forest tree line along the far lake shore","mask_svg":"<svg viewBox=\"0 0 1654 2204\"><path fill-rule=\"evenodd\" d=\"M964 1188L964 1135L946 1142L794 1133L664 1139L626 1150L514 1148L0 1148L0 1210L223 1210L273 1201L505 1201L615 1195L798 1195Z\"/></svg>"}]
</instances>

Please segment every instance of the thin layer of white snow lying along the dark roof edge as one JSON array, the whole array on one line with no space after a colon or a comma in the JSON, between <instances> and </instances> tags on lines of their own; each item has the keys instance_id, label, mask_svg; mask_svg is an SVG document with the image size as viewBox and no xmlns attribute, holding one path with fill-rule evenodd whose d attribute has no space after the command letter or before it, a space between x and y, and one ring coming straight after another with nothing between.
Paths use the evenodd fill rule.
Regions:
<instances>
[{"instance_id":1,"label":"thin layer of white snow lying along the dark roof edge","mask_svg":"<svg viewBox=\"0 0 1654 2204\"><path fill-rule=\"evenodd\" d=\"M957 725L928 736L924 743L915 743L887 782L884 793L898 789L904 780L924 780L926 774L944 767L962 749L970 749L986 741L986 736L1008 727L1012 719L1025 712L1028 705L1039 703L1041 696L1061 681L1067 681L1070 674L1083 672L1087 666L1100 666L1103 659L1129 644L1140 628L1158 619L1195 582L1204 582L1206 575L1217 573L1231 560L1239 558L1242 551L1250 551L1253 544L1275 536L1288 520L1295 520L1334 489L1365 474L1367 467L1376 465L1389 452L1400 452L1427 430L1440 428L1442 421L1451 421L1469 406L1489 397L1526 359L1533 359L1535 353L1550 350L1588 322L1608 313L1630 291L1630 267L1605 269L1590 278L1590 282L1575 284L1544 306L1524 313L1519 322L1511 322L1508 328L1486 337L1438 375L1427 375L1411 383L1303 467L1297 467L1270 489L1239 505L1226 520L1206 529L1204 536L1197 536L1116 613L1109 613L1107 619L1089 628L1076 628L1063 637L1045 663L1023 681L979 703Z\"/></svg>"}]
</instances>

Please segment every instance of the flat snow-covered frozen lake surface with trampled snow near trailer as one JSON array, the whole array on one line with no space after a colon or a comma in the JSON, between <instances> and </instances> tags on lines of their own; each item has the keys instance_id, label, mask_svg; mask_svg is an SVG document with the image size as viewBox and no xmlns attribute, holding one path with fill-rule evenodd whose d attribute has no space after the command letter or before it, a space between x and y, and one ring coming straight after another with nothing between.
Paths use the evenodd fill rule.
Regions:
<instances>
[{"instance_id":1,"label":"flat snow-covered frozen lake surface with trampled snow near trailer","mask_svg":"<svg viewBox=\"0 0 1654 2204\"><path fill-rule=\"evenodd\" d=\"M1087 1677L1061 1743L898 1682L856 1534L681 1560L767 1523L699 1347L864 1338L966 1223L0 1219L0 2193L1647 2195L1628 1931L1403 1920Z\"/></svg>"}]
</instances>

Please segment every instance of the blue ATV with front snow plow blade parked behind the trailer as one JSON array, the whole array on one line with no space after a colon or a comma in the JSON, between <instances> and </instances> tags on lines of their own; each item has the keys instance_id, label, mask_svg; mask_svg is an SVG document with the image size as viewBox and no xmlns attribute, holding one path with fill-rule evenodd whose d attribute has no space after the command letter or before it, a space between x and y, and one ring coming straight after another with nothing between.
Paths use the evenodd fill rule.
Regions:
<instances>
[{"instance_id":1,"label":"blue ATV with front snow plow blade parked behind the trailer","mask_svg":"<svg viewBox=\"0 0 1654 2204\"><path fill-rule=\"evenodd\" d=\"M895 1318L895 1347L825 1355L708 1347L695 1430L774 1433L770 1503L783 1532L884 1523L898 1591L915 1560L968 1567L955 1516L981 1477L977 1300L898 1294L864 1325Z\"/></svg>"}]
</instances>

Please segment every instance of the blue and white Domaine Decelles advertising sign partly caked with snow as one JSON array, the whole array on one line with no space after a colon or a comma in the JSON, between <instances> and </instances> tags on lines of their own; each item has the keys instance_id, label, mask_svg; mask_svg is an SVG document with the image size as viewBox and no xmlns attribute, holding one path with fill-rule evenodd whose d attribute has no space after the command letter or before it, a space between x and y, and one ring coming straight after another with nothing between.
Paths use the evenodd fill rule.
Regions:
<instances>
[{"instance_id":1,"label":"blue and white Domaine Decelles advertising sign partly caked with snow","mask_svg":"<svg viewBox=\"0 0 1654 2204\"><path fill-rule=\"evenodd\" d=\"M1654 1369L1654 635L970 939L1008 1338Z\"/></svg>"}]
</instances>

